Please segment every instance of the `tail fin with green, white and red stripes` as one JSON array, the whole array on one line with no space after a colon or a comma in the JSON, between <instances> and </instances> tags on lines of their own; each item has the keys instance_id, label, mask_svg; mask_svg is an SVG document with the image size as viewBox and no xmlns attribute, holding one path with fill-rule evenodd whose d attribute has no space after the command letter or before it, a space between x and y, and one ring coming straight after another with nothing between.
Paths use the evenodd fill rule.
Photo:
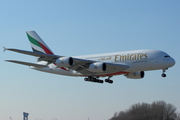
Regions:
<instances>
[{"instance_id":1,"label":"tail fin with green, white and red stripes","mask_svg":"<svg viewBox=\"0 0 180 120\"><path fill-rule=\"evenodd\" d=\"M44 43L35 31L27 31L26 34L34 52L54 55L51 49Z\"/></svg>"}]
</instances>

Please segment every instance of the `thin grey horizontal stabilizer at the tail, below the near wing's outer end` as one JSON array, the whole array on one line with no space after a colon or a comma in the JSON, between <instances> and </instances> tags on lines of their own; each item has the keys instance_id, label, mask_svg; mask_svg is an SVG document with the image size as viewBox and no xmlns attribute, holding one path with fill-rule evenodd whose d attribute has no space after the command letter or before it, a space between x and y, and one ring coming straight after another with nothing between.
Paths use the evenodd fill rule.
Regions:
<instances>
[{"instance_id":1,"label":"thin grey horizontal stabilizer at the tail, below the near wing's outer end","mask_svg":"<svg viewBox=\"0 0 180 120\"><path fill-rule=\"evenodd\" d=\"M22 62L22 61L16 61L16 60L5 60L7 62L13 62L21 65L27 65L27 66L34 66L34 67L47 67L47 65L41 65L36 63L29 63L29 62Z\"/></svg>"}]
</instances>

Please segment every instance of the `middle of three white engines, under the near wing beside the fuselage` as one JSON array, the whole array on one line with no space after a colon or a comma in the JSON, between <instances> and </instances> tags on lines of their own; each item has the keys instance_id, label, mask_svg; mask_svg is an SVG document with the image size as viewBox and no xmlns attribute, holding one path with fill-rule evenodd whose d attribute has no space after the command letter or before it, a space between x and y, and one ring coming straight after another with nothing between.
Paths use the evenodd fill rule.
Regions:
<instances>
[{"instance_id":1,"label":"middle of three white engines, under the near wing beside the fuselage","mask_svg":"<svg viewBox=\"0 0 180 120\"><path fill-rule=\"evenodd\" d=\"M96 62L89 65L88 68L91 72L104 72L106 71L106 64L102 62Z\"/></svg>"}]
</instances>

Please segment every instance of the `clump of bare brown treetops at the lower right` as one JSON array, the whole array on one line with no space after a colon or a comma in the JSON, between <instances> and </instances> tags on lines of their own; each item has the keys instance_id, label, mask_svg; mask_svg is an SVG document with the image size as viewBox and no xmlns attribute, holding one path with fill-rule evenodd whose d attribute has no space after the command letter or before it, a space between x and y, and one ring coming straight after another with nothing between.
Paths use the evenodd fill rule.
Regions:
<instances>
[{"instance_id":1,"label":"clump of bare brown treetops at the lower right","mask_svg":"<svg viewBox=\"0 0 180 120\"><path fill-rule=\"evenodd\" d=\"M137 103L126 111L116 112L110 120L180 120L176 107L164 101Z\"/></svg>"}]
</instances>

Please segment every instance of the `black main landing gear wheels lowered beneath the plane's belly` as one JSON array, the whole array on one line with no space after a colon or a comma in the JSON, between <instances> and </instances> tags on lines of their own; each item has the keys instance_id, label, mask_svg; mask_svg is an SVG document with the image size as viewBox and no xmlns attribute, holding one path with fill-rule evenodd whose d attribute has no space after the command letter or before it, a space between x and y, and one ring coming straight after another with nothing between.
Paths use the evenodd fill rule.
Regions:
<instances>
[{"instance_id":1,"label":"black main landing gear wheels lowered beneath the plane's belly","mask_svg":"<svg viewBox=\"0 0 180 120\"><path fill-rule=\"evenodd\" d=\"M113 81L110 80L111 77L112 77L112 76L109 76L108 79L105 79L105 82L112 84ZM103 80L100 80L100 79L98 79L98 78L96 78L96 77L92 77L92 76L89 76L89 77L87 77L87 78L84 78L84 80L85 80L85 81L88 81L88 82L104 83Z\"/></svg>"}]
</instances>

